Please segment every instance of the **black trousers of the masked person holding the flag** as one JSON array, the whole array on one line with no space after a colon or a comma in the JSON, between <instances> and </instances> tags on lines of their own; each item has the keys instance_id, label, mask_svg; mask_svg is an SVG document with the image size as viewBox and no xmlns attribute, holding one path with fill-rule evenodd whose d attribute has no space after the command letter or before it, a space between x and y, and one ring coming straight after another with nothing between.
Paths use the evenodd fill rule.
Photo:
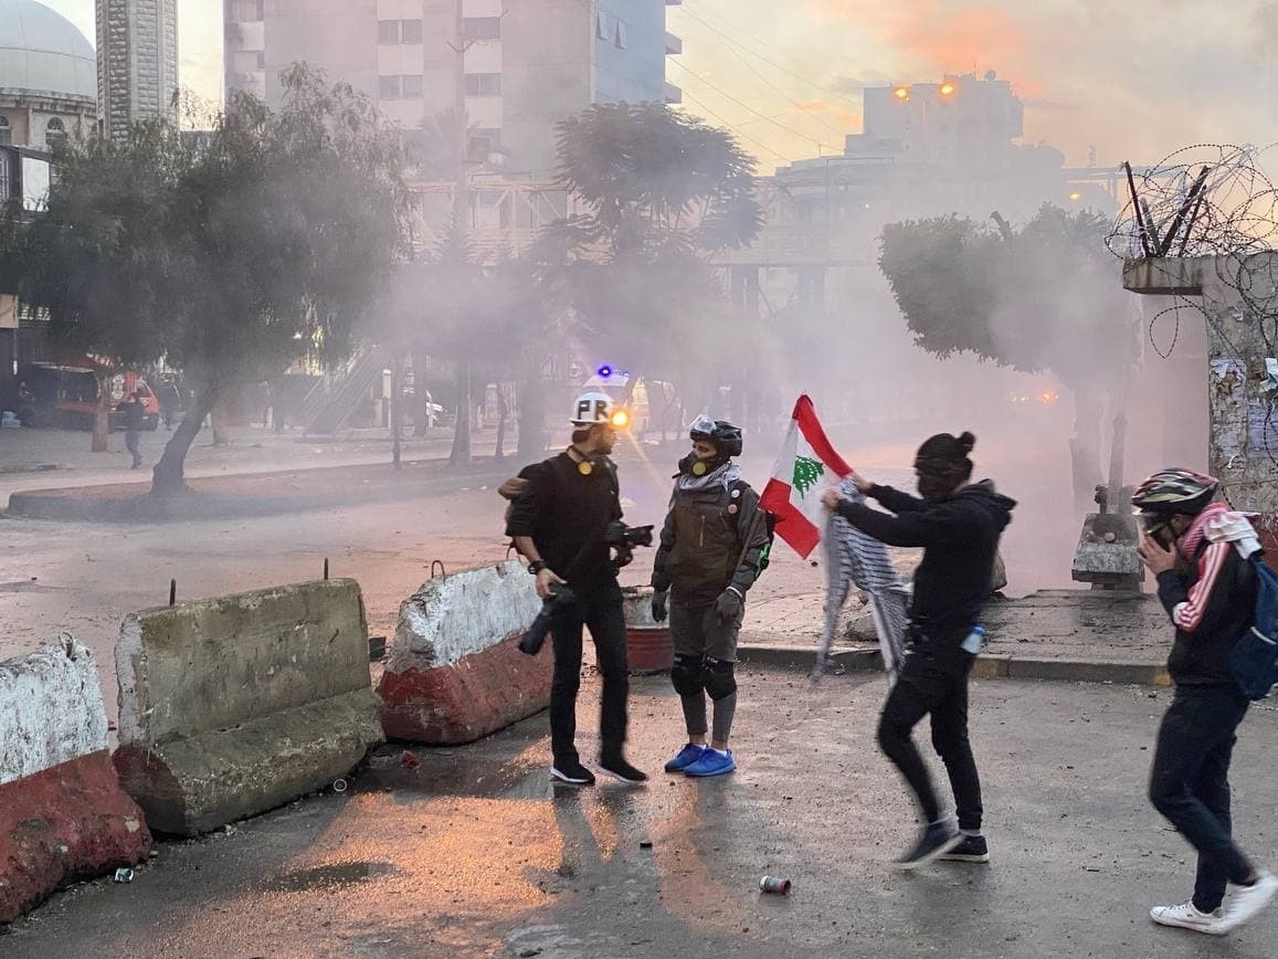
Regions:
<instances>
[{"instance_id":1,"label":"black trousers of the masked person holding the flag","mask_svg":"<svg viewBox=\"0 0 1278 959\"><path fill-rule=\"evenodd\" d=\"M967 675L976 657L958 648L934 648L929 643L910 648L901 675L892 687L879 716L878 740L896 763L923 807L928 822L941 818L928 766L914 744L911 731L932 716L932 745L950 772L958 829L980 830L980 776L967 742Z\"/></svg>"}]
</instances>

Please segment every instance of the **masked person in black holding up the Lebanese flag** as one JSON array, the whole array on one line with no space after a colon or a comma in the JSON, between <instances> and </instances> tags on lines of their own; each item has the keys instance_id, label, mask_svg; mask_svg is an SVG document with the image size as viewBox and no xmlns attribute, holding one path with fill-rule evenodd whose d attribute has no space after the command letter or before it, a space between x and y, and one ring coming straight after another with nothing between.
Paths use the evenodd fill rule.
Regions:
<instances>
[{"instance_id":1,"label":"masked person in black holding up the Lebanese flag","mask_svg":"<svg viewBox=\"0 0 1278 959\"><path fill-rule=\"evenodd\" d=\"M967 740L967 676L980 651L978 621L989 596L998 538L1011 522L1015 501L985 480L971 483L971 433L938 433L914 460L921 499L854 474L856 488L891 510L852 503L837 490L826 506L888 546L923 547L914 574L910 638L905 665L879 717L878 742L901 771L921 807L925 826L901 868L937 858L983 863L989 849L982 835L980 777ZM950 774L958 829L942 817L928 767L911 738L932 716L932 744Z\"/></svg>"}]
</instances>

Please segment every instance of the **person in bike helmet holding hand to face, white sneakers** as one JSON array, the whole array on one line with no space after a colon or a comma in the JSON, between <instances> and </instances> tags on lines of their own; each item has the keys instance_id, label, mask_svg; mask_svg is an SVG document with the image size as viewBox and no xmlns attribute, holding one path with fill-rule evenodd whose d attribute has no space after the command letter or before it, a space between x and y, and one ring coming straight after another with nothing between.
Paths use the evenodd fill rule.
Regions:
<instances>
[{"instance_id":1,"label":"person in bike helmet holding hand to face, white sneakers","mask_svg":"<svg viewBox=\"0 0 1278 959\"><path fill-rule=\"evenodd\" d=\"M1245 515L1212 501L1217 487L1190 469L1160 469L1131 503L1144 526L1140 559L1176 627L1167 660L1176 693L1158 730L1149 799L1199 854L1190 901L1155 905L1149 916L1223 936L1269 904L1278 878L1256 869L1232 838L1229 760L1250 701L1228 660L1255 623L1259 581L1249 560L1260 540ZM1226 904L1231 882L1237 890Z\"/></svg>"}]
</instances>

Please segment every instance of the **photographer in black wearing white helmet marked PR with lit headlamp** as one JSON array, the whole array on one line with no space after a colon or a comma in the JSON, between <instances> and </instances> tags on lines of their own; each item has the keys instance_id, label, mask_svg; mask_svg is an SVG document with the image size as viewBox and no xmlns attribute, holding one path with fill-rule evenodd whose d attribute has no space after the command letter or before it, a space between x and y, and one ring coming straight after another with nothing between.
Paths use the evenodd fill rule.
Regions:
<instances>
[{"instance_id":1,"label":"photographer in black wearing white helmet marked PR with lit headlamp","mask_svg":"<svg viewBox=\"0 0 1278 959\"><path fill-rule=\"evenodd\" d=\"M629 414L606 394L587 393L574 402L570 422L573 445L519 474L527 485L506 522L506 534L514 537L529 560L529 573L537 577L537 595L550 600L566 584L573 596L573 602L556 607L551 625L551 777L570 785L594 783L575 744L584 627L594 639L603 679L599 768L624 783L643 783L647 776L624 754L630 680L617 568L629 556L619 550L622 555L615 561L608 545L608 527L621 519L617 468L608 454Z\"/></svg>"}]
</instances>

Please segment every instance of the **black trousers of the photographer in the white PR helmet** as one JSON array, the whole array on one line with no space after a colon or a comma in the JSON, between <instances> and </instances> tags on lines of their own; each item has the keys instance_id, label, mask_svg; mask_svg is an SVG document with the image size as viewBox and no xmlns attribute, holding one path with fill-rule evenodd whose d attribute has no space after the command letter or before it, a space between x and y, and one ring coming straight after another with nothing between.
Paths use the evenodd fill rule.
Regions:
<instances>
[{"instance_id":1,"label":"black trousers of the photographer in the white PR helmet","mask_svg":"<svg viewBox=\"0 0 1278 959\"><path fill-rule=\"evenodd\" d=\"M551 680L551 752L556 765L576 761L576 693L581 687L581 629L590 630L603 679L599 707L599 743L603 756L620 756L626 742L626 698L630 673L626 664L626 621L621 595L578 600L561 611L551 628L555 678Z\"/></svg>"}]
</instances>

